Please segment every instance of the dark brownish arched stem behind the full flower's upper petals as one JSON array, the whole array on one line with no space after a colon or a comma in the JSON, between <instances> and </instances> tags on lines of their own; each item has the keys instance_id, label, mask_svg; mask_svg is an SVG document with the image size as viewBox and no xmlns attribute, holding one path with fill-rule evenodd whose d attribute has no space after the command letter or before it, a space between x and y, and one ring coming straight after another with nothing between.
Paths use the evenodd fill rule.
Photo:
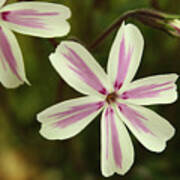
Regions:
<instances>
[{"instance_id":1,"label":"dark brownish arched stem behind the full flower's upper petals","mask_svg":"<svg viewBox=\"0 0 180 180\"><path fill-rule=\"evenodd\" d=\"M162 14L155 10L149 10L149 9L137 9L132 10L124 13L120 16L117 20L115 20L107 29L105 29L104 32L102 32L95 41L89 46L89 49L94 49L96 46L98 46L112 31L114 31L117 27L121 25L121 23L129 18L129 17L147 17L147 18L154 18L158 20L164 19Z\"/></svg>"}]
</instances>

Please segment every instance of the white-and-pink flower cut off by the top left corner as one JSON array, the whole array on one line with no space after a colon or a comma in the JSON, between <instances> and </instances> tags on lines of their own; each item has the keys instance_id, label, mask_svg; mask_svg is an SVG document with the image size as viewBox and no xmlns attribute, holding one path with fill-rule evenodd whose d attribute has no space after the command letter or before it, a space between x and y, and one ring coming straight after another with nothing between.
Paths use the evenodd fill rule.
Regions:
<instances>
[{"instance_id":1,"label":"white-and-pink flower cut off by the top left corner","mask_svg":"<svg viewBox=\"0 0 180 180\"><path fill-rule=\"evenodd\" d=\"M15 88L28 80L12 31L44 38L64 36L70 30L66 19L71 13L59 4L18 2L2 7L5 2L0 2L0 82L7 88Z\"/></svg>"}]
</instances>

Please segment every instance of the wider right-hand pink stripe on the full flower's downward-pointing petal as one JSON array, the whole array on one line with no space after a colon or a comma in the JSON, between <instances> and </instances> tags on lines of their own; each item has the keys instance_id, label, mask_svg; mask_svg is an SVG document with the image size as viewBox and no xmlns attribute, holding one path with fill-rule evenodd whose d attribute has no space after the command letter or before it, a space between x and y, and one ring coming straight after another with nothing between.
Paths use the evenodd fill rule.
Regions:
<instances>
[{"instance_id":1,"label":"wider right-hand pink stripe on the full flower's downward-pointing petal","mask_svg":"<svg viewBox=\"0 0 180 180\"><path fill-rule=\"evenodd\" d=\"M116 165L119 168L122 168L122 152L118 137L118 131L115 124L114 119L114 111L112 108L109 109L109 117L110 117L110 124L111 124L111 136L112 136L112 147L113 147L113 155Z\"/></svg>"}]
</instances>

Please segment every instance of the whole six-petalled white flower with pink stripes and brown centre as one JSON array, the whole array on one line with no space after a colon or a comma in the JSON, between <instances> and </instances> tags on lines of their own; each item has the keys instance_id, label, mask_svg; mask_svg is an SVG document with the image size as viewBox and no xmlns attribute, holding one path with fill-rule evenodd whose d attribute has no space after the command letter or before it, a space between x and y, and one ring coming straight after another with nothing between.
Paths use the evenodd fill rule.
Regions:
<instances>
[{"instance_id":1,"label":"whole six-petalled white flower with pink stripes and brown centre","mask_svg":"<svg viewBox=\"0 0 180 180\"><path fill-rule=\"evenodd\" d=\"M87 96L39 113L40 134L50 140L71 138L103 111L101 171L106 177L115 172L125 174L134 162L134 149L126 126L142 145L154 152L163 151L166 141L175 133L168 121L141 105L174 102L178 76L156 75L131 82L143 47L139 29L132 24L122 24L110 51L107 74L79 43L64 41L50 55L61 77Z\"/></svg>"}]
</instances>

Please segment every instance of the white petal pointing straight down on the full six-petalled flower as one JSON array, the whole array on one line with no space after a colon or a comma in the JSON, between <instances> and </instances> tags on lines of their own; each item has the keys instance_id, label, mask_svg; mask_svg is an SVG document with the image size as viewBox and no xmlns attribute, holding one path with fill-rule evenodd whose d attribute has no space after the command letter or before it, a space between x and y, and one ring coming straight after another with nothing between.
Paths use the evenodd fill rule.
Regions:
<instances>
[{"instance_id":1,"label":"white petal pointing straight down on the full six-petalled flower","mask_svg":"<svg viewBox=\"0 0 180 180\"><path fill-rule=\"evenodd\" d=\"M107 107L101 119L101 171L105 177L125 174L134 162L134 149L121 119Z\"/></svg>"}]
</instances>

